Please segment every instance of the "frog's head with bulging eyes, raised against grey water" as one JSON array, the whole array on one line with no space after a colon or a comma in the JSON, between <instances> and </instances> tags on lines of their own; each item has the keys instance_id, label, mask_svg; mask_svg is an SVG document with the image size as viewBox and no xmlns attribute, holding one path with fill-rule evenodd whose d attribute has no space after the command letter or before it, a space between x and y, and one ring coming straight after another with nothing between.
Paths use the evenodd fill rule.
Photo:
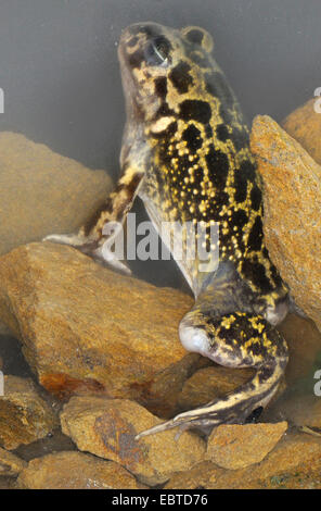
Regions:
<instances>
[{"instance_id":1,"label":"frog's head with bulging eyes, raised against grey water","mask_svg":"<svg viewBox=\"0 0 321 511\"><path fill-rule=\"evenodd\" d=\"M211 49L210 35L200 27L137 23L126 28L118 54L128 114L144 122L174 114L211 67Z\"/></svg>"}]
</instances>

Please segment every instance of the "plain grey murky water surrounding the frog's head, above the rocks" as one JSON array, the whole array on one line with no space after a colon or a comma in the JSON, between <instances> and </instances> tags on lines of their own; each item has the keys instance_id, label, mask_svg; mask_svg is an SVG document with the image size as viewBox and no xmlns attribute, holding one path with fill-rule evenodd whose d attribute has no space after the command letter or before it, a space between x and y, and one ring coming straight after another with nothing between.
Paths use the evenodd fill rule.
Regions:
<instances>
[{"instance_id":1,"label":"plain grey murky water surrounding the frog's head, above the rocks","mask_svg":"<svg viewBox=\"0 0 321 511\"><path fill-rule=\"evenodd\" d=\"M207 28L249 121L281 121L321 86L321 0L0 0L0 130L116 177L116 43L140 21Z\"/></svg>"}]
</instances>

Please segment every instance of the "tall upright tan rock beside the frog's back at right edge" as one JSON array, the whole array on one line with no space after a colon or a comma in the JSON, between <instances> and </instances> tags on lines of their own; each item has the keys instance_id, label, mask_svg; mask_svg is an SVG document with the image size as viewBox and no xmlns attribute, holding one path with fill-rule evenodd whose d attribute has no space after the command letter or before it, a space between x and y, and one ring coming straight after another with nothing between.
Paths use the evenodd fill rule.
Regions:
<instances>
[{"instance_id":1,"label":"tall upright tan rock beside the frog's back at right edge","mask_svg":"<svg viewBox=\"0 0 321 511\"><path fill-rule=\"evenodd\" d=\"M321 167L274 121L254 120L252 151L265 185L265 235L296 303L321 329Z\"/></svg>"}]
</instances>

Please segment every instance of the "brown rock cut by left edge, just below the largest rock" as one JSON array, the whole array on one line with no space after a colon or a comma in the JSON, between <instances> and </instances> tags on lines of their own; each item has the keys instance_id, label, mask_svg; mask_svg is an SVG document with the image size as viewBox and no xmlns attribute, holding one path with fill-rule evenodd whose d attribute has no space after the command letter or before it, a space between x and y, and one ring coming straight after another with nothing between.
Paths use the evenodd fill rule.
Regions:
<instances>
[{"instance_id":1,"label":"brown rock cut by left edge, just below the largest rock","mask_svg":"<svg viewBox=\"0 0 321 511\"><path fill-rule=\"evenodd\" d=\"M0 397L1 446L15 449L43 438L56 426L55 415L30 379L4 376L4 396Z\"/></svg>"}]
</instances>

